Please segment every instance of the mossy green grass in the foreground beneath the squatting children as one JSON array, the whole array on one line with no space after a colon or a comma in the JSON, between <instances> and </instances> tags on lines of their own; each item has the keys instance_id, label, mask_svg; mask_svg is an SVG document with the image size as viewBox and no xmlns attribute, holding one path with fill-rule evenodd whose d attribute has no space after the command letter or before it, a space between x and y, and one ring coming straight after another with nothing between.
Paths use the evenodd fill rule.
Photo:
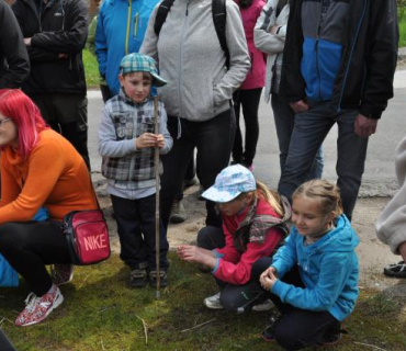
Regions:
<instances>
[{"instance_id":1,"label":"mossy green grass in the foreground beneath the squatting children","mask_svg":"<svg viewBox=\"0 0 406 351\"><path fill-rule=\"evenodd\" d=\"M267 313L206 309L202 301L216 292L214 280L172 252L170 260L170 285L158 301L154 288L127 287L128 271L117 256L99 265L77 268L74 282L61 287L64 304L43 324L26 328L12 321L23 308L27 286L2 288L1 328L19 351L281 350L260 338ZM362 291L354 314L345 324L349 335L334 350L371 350L363 344L405 350L405 302ZM188 330L205 321L210 322Z\"/></svg>"}]
</instances>

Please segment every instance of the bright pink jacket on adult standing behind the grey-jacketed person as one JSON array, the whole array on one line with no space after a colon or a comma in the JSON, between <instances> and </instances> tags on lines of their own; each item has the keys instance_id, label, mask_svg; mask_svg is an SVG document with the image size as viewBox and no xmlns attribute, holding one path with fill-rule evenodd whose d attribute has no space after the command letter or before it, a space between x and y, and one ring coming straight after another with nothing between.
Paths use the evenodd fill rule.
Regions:
<instances>
[{"instance_id":1,"label":"bright pink jacket on adult standing behind the grey-jacketed person","mask_svg":"<svg viewBox=\"0 0 406 351\"><path fill-rule=\"evenodd\" d=\"M235 0L235 2L239 5L239 0ZM261 14L264 4L264 0L252 0L252 4L248 9L239 8L243 18L244 31L246 33L249 56L251 59L251 68L240 87L243 90L264 87L267 57L253 45L253 27L256 26L257 20Z\"/></svg>"}]
</instances>

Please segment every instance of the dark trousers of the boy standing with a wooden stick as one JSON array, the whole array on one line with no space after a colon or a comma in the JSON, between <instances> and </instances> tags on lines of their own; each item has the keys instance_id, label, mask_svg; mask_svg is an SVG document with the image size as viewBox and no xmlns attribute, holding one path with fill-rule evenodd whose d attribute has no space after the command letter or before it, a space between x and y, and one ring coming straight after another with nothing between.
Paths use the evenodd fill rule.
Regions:
<instances>
[{"instance_id":1,"label":"dark trousers of the boy standing with a wooden stick","mask_svg":"<svg viewBox=\"0 0 406 351\"><path fill-rule=\"evenodd\" d=\"M155 194L128 200L111 195L121 244L120 258L131 268L156 270ZM160 223L160 269L169 267L167 231Z\"/></svg>"}]
</instances>

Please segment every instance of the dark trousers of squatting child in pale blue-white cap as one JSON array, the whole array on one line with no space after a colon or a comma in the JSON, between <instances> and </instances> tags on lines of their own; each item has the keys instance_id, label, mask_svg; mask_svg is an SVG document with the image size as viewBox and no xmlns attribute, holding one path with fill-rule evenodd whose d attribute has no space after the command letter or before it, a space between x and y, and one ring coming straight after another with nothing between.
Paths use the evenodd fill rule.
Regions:
<instances>
[{"instance_id":1,"label":"dark trousers of squatting child in pale blue-white cap","mask_svg":"<svg viewBox=\"0 0 406 351\"><path fill-rule=\"evenodd\" d=\"M223 229L217 227L202 228L198 234L198 246L206 250L224 247L225 236ZM221 288L221 304L227 310L243 313L268 298L258 280L251 279L246 284L235 285L215 276L214 279Z\"/></svg>"}]
</instances>

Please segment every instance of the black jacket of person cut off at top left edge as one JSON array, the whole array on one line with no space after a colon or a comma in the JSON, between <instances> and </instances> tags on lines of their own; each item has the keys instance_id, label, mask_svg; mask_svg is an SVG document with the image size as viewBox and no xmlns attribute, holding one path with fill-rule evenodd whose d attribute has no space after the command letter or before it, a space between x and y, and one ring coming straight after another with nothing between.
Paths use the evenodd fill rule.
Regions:
<instances>
[{"instance_id":1,"label":"black jacket of person cut off at top left edge","mask_svg":"<svg viewBox=\"0 0 406 351\"><path fill-rule=\"evenodd\" d=\"M0 0L0 89L20 88L30 72L30 60L10 7Z\"/></svg>"}]
</instances>

